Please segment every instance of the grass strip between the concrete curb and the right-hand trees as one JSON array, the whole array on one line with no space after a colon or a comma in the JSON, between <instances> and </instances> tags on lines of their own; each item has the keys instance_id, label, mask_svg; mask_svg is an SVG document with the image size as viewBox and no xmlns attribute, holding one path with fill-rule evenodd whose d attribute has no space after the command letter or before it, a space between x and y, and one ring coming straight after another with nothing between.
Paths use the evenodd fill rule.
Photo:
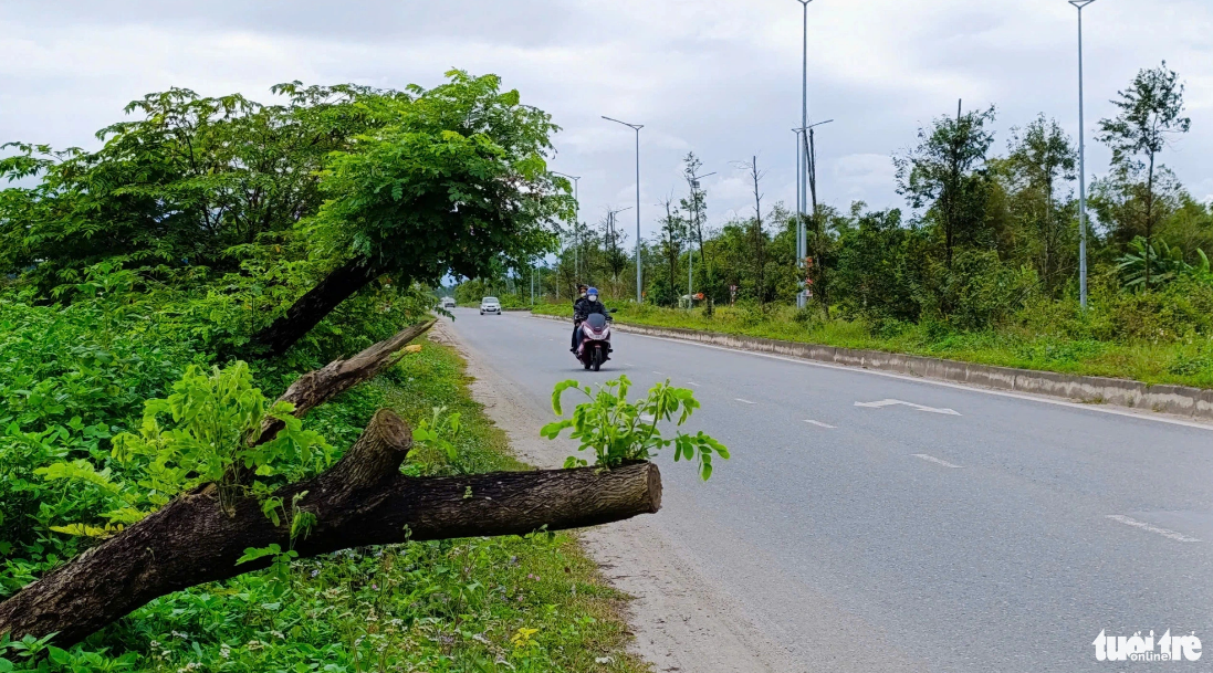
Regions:
<instances>
[{"instance_id":1,"label":"grass strip between the concrete curb and the right-hand trees","mask_svg":"<svg viewBox=\"0 0 1213 673\"><path fill-rule=\"evenodd\" d=\"M985 365L1055 371L1084 376L1129 378L1150 384L1172 383L1213 388L1213 341L1118 343L1069 340L1033 333L1024 327L958 332L938 324L873 326L864 320L797 315L795 308L717 307L711 318L702 309L617 304L620 323L705 330L842 348L929 355ZM571 304L539 304L543 315L573 315Z\"/></svg>"}]
</instances>

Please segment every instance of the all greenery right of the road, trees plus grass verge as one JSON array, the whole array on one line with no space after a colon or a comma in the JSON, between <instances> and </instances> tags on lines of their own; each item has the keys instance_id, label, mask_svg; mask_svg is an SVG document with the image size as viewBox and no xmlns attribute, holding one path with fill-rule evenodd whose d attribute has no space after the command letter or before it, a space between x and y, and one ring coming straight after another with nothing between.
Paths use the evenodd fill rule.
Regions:
<instances>
[{"instance_id":1,"label":"all greenery right of the road, trees plus grass verge","mask_svg":"<svg viewBox=\"0 0 1213 673\"><path fill-rule=\"evenodd\" d=\"M690 154L687 196L661 205L642 249L653 308L622 306L636 267L606 262L602 228L580 228L539 269L540 293L568 298L580 279L604 289L621 320L1211 387L1213 204L1164 165L1190 130L1183 95L1166 63L1141 70L1098 125L1112 164L1089 186L1087 308L1076 143L1042 114L1013 129L998 154L993 108L941 116L894 156L909 210L810 212L807 268L796 259L797 216L782 205L704 227ZM762 173L745 170L757 186ZM813 296L797 312L804 279ZM689 280L696 310L678 310Z\"/></svg>"}]
</instances>

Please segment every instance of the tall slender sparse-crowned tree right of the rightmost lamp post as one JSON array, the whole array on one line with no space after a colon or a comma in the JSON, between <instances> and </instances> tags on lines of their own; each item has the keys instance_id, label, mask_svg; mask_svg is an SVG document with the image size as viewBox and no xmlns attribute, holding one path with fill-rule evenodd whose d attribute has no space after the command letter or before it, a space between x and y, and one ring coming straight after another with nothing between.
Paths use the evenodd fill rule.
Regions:
<instances>
[{"instance_id":1,"label":"tall slender sparse-crowned tree right of the rightmost lamp post","mask_svg":"<svg viewBox=\"0 0 1213 673\"><path fill-rule=\"evenodd\" d=\"M1114 170L1134 193L1134 201L1140 203L1138 219L1149 250L1160 215L1155 188L1158 154L1167 147L1168 138L1188 132L1191 120L1183 116L1184 85L1178 82L1178 75L1167 68L1166 61L1158 68L1140 70L1129 89L1120 91L1118 96L1112 104L1120 114L1099 122L1099 141L1112 149ZM1144 284L1150 286L1149 263Z\"/></svg>"}]
</instances>

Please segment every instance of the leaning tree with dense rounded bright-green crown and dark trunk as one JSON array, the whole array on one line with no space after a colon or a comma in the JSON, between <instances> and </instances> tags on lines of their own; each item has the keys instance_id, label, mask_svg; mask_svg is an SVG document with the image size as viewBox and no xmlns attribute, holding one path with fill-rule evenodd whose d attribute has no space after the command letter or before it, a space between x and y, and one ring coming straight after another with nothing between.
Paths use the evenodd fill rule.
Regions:
<instances>
[{"instance_id":1,"label":"leaning tree with dense rounded bright-green crown and dark trunk","mask_svg":"<svg viewBox=\"0 0 1213 673\"><path fill-rule=\"evenodd\" d=\"M410 87L388 113L321 173L326 201L306 232L334 268L255 337L264 352L285 352L383 274L433 285L478 276L499 256L518 266L554 249L552 223L571 199L545 162L557 131L547 113L501 91L496 75L461 70Z\"/></svg>"}]
</instances>

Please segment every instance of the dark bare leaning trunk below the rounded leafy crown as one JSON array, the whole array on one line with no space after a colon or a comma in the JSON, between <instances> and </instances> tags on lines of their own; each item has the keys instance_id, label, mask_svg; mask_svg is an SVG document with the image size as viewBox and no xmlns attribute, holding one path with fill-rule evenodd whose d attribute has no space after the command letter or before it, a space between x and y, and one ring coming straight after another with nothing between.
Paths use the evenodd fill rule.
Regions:
<instances>
[{"instance_id":1,"label":"dark bare leaning trunk below the rounded leafy crown","mask_svg":"<svg viewBox=\"0 0 1213 673\"><path fill-rule=\"evenodd\" d=\"M365 257L355 257L334 269L315 287L296 300L286 314L254 335L250 355L274 358L285 353L332 309L361 290L382 272Z\"/></svg>"}]
</instances>

